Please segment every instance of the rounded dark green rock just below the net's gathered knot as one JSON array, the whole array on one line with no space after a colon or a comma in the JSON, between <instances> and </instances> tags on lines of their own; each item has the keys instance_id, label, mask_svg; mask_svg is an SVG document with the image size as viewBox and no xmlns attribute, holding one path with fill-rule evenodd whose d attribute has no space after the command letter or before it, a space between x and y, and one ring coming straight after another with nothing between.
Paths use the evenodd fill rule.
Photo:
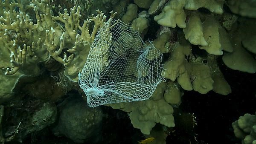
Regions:
<instances>
[{"instance_id":1,"label":"rounded dark green rock just below the net's gathered knot","mask_svg":"<svg viewBox=\"0 0 256 144\"><path fill-rule=\"evenodd\" d=\"M65 135L77 143L97 141L102 125L102 110L90 108L82 98L67 98L59 107L55 135Z\"/></svg>"}]
</instances>

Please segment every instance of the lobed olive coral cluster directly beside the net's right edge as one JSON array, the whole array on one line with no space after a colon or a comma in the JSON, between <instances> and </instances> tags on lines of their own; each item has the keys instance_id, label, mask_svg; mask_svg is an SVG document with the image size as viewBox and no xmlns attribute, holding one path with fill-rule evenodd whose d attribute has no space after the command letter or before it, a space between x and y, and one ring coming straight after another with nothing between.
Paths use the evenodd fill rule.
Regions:
<instances>
[{"instance_id":1,"label":"lobed olive coral cluster directly beside the net's right edge","mask_svg":"<svg viewBox=\"0 0 256 144\"><path fill-rule=\"evenodd\" d=\"M172 55L164 64L166 69L165 78L172 81L177 79L178 84L185 90L192 90L206 94L213 89L214 81L212 73L215 74L215 68L210 69L211 65L203 63L202 58L195 58L191 54L190 44L181 38L179 43L172 47ZM211 64L215 64L213 61ZM219 72L219 71L218 71ZM218 73L221 76L221 73ZM224 80L223 80L224 81ZM227 84L227 86L229 86ZM217 91L218 93L221 93ZM227 88L227 92L230 90ZM224 93L224 92L222 92ZM226 94L224 93L224 94Z\"/></svg>"}]
</instances>

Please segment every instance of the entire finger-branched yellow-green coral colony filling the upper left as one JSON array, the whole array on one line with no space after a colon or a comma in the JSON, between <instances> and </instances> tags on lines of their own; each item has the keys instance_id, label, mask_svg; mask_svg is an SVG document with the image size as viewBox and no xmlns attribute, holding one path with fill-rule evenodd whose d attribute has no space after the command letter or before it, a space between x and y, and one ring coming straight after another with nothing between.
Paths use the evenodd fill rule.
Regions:
<instances>
[{"instance_id":1,"label":"entire finger-branched yellow-green coral colony filling the upper left","mask_svg":"<svg viewBox=\"0 0 256 144\"><path fill-rule=\"evenodd\" d=\"M64 74L70 81L78 80L90 50L96 32L106 20L105 14L97 10L97 15L92 15L84 20L80 26L80 7L73 7L68 13L59 12L54 16L50 9L49 0L28 2L33 12L25 13L25 7L21 1L17 3L6 0L0 2L3 9L0 14L0 69L5 70L5 75L14 75L13 82L9 82L9 88L1 91L1 95L11 93L20 75L39 75L41 70L38 64L45 64L50 58L54 58L65 67ZM16 11L15 7L19 8ZM116 13L111 12L111 17ZM33 20L31 16L35 16ZM89 33L89 23L93 21L94 27ZM61 57L61 54L64 54ZM4 76L4 79L12 79L12 76ZM0 82L1 84L4 81Z\"/></svg>"}]
</instances>

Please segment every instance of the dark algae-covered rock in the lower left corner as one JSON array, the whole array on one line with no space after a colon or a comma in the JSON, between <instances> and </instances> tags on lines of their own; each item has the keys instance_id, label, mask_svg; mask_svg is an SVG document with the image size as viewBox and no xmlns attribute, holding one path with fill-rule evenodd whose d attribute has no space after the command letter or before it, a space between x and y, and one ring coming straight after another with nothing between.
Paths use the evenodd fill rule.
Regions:
<instances>
[{"instance_id":1,"label":"dark algae-covered rock in the lower left corner","mask_svg":"<svg viewBox=\"0 0 256 144\"><path fill-rule=\"evenodd\" d=\"M27 98L6 106L5 117L7 122L1 128L5 130L4 137L12 142L22 142L29 135L53 124L57 118L57 108L55 104Z\"/></svg>"}]
</instances>

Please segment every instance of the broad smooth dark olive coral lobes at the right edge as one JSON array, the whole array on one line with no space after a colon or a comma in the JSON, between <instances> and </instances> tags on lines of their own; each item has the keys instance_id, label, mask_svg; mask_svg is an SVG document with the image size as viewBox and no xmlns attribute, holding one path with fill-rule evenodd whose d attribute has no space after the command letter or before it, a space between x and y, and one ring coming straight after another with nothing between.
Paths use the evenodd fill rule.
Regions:
<instances>
[{"instance_id":1,"label":"broad smooth dark olive coral lobes at the right edge","mask_svg":"<svg viewBox=\"0 0 256 144\"><path fill-rule=\"evenodd\" d=\"M240 18L240 24L236 31L232 31L231 43L233 52L225 53L222 57L226 66L231 69L242 72L255 73L256 60L243 46L246 46L246 41L249 42L251 37L255 35L254 19ZM241 43L242 42L242 43ZM249 48L249 47L248 47Z\"/></svg>"}]
</instances>

